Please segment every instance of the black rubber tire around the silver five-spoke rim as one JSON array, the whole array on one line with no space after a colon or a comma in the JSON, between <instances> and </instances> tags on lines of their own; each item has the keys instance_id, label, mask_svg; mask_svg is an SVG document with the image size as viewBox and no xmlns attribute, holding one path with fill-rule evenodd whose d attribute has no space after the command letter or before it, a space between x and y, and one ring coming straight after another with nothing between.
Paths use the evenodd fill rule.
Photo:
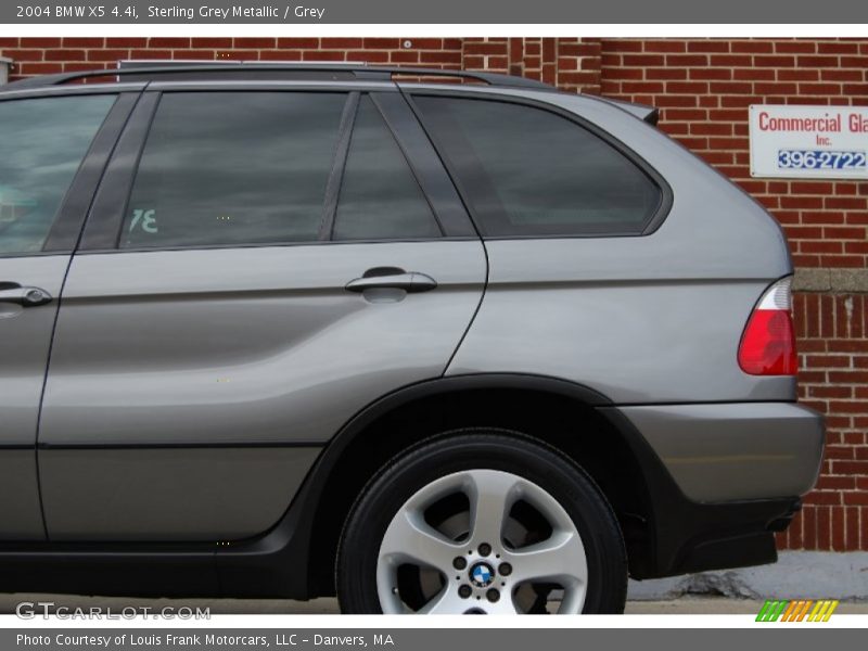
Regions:
<instances>
[{"instance_id":1,"label":"black rubber tire around the silver five-spoke rim","mask_svg":"<svg viewBox=\"0 0 868 651\"><path fill-rule=\"evenodd\" d=\"M585 547L588 580L582 612L624 612L624 539L600 489L558 450L519 433L499 430L445 433L392 459L368 483L350 509L339 544L335 586L342 612L382 612L376 563L395 513L431 482L475 469L520 475L550 494L575 524Z\"/></svg>"}]
</instances>

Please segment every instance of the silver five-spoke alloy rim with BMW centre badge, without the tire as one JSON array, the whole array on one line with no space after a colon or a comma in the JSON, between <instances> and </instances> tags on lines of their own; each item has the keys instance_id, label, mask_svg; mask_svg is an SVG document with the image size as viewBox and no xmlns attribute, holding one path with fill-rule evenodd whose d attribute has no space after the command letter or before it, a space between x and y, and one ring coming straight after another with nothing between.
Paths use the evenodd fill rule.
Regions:
<instances>
[{"instance_id":1,"label":"silver five-spoke alloy rim with BMW centre badge, without the tire","mask_svg":"<svg viewBox=\"0 0 868 651\"><path fill-rule=\"evenodd\" d=\"M447 501L451 512L432 522L431 511ZM533 518L523 521L521 512L513 513L519 502ZM467 531L456 531L458 520ZM399 573L407 565L439 575L439 590L419 608L421 613L522 612L514 598L525 584L537 591L557 586L560 612L582 612L585 602L587 560L570 515L538 485L499 470L452 473L401 506L378 559L376 589L385 613L407 612Z\"/></svg>"}]
</instances>

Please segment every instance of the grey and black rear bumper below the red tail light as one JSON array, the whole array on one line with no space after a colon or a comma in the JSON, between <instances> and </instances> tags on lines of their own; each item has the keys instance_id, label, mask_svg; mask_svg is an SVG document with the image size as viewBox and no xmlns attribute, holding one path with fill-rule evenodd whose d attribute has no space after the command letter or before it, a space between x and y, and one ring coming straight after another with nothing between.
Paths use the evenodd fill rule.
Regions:
<instances>
[{"instance_id":1,"label":"grey and black rear bumper below the red tail light","mask_svg":"<svg viewBox=\"0 0 868 651\"><path fill-rule=\"evenodd\" d=\"M817 477L822 456L822 418L793 404L755 405L757 408L752 404L598 407L598 412L624 436L633 450L642 470L648 494L648 521L639 541L642 552L630 559L634 578L658 578L777 561L775 533L787 528L801 509L800 495L810 489ZM703 409L705 407L710 409ZM628 418L627 413L633 418ZM709 436L705 427L710 426L710 416L714 413L728 413L733 418L717 418L717 424ZM697 414L701 418L697 418ZM765 419L761 414L766 414ZM745 495L744 486L739 486L738 482L744 481L751 472L750 460L738 457L745 454L750 457L757 447L755 442L744 439L745 432L753 432L755 437L762 435L763 430L756 430L755 424L750 423L757 420L767 422L771 419L769 414L789 416L782 422L789 420L791 424L796 424L793 431L800 441L795 445L804 446L800 447L803 450L800 454L804 454L806 459L791 470L781 470L783 476L773 477L765 487L756 483L749 484L752 488ZM731 432L735 438L729 443L726 441L726 427L723 426L728 421L733 425ZM659 433L659 436L655 438L652 434L646 437L646 432L639 430L637 422L646 425L653 422L654 433ZM674 432L668 441L664 438L667 435L664 423ZM667 448L661 446L661 439L671 446L681 442L684 447L679 451L690 459L707 457L707 462L698 461L697 465L706 470L712 468L717 473L711 482L713 485L702 487L699 482L691 485L691 476L687 487L694 490L693 495L688 495L674 476L678 472L678 464L667 465L648 438L655 438L658 447L663 450ZM710 442L704 449L703 438ZM775 439L780 441L777 435ZM767 448L761 445L760 449ZM715 463L712 459L718 455L723 455L725 460ZM726 457L732 459L727 460ZM672 472L671 468L676 472ZM792 476L789 476L790 473ZM762 476L757 480L765 481ZM681 481L685 481L684 475ZM793 487L793 493L780 494L788 485ZM695 499L698 495L709 499Z\"/></svg>"}]
</instances>

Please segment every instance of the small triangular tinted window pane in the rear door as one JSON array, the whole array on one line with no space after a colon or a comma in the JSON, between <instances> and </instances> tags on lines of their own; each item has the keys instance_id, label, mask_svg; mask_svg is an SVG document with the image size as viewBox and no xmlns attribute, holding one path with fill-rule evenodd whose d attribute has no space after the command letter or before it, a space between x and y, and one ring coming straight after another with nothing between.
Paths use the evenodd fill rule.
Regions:
<instances>
[{"instance_id":1,"label":"small triangular tinted window pane in the rear door","mask_svg":"<svg viewBox=\"0 0 868 651\"><path fill-rule=\"evenodd\" d=\"M361 99L334 224L335 240L439 237L431 207L370 98Z\"/></svg>"}]
</instances>

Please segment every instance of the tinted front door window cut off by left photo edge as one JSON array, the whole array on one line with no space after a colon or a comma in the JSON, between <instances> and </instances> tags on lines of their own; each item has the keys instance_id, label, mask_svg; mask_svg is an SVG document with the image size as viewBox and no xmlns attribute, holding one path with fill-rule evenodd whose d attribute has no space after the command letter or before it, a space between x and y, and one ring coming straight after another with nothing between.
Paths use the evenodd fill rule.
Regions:
<instances>
[{"instance_id":1,"label":"tinted front door window cut off by left photo edge","mask_svg":"<svg viewBox=\"0 0 868 651\"><path fill-rule=\"evenodd\" d=\"M0 102L0 253L42 250L114 95Z\"/></svg>"}]
</instances>

